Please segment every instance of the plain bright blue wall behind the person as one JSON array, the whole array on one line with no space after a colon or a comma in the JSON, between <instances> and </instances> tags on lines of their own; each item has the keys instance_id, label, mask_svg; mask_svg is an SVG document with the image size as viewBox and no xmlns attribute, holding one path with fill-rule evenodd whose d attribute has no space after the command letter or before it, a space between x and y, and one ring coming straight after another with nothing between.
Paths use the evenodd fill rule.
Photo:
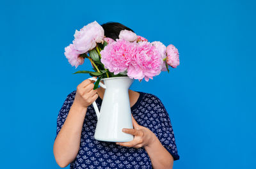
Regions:
<instances>
[{"instance_id":1,"label":"plain bright blue wall behind the person","mask_svg":"<svg viewBox=\"0 0 256 169\"><path fill-rule=\"evenodd\" d=\"M173 44L180 66L132 89L156 94L173 124L173 168L256 168L253 1L1 1L1 168L60 168L52 147L67 94L88 75L64 47L96 20Z\"/></svg>"}]
</instances>

